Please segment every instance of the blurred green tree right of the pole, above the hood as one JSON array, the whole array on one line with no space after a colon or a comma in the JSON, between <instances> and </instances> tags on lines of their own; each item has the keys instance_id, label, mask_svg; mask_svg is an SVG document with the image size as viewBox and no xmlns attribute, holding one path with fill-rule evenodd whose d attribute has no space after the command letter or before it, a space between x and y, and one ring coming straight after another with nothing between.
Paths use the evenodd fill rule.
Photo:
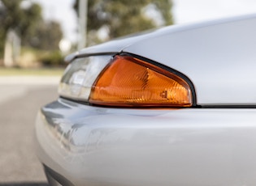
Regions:
<instances>
[{"instance_id":1,"label":"blurred green tree right of the pole, above the hood","mask_svg":"<svg viewBox=\"0 0 256 186\"><path fill-rule=\"evenodd\" d=\"M78 6L79 0L76 0L76 12ZM87 30L89 35L95 35L105 27L112 39L158 27L159 23L160 26L170 25L173 23L171 6L171 0L88 0ZM148 16L146 13L150 11L158 14L160 19Z\"/></svg>"}]
</instances>

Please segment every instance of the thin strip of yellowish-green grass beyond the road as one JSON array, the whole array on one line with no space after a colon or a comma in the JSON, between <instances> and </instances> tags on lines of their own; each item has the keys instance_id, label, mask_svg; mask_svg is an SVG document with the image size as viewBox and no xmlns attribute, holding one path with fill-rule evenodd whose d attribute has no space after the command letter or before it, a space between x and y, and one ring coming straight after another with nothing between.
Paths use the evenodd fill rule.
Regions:
<instances>
[{"instance_id":1,"label":"thin strip of yellowish-green grass beyond the road","mask_svg":"<svg viewBox=\"0 0 256 186\"><path fill-rule=\"evenodd\" d=\"M63 68L20 69L0 67L0 76L61 76L63 71Z\"/></svg>"}]
</instances>

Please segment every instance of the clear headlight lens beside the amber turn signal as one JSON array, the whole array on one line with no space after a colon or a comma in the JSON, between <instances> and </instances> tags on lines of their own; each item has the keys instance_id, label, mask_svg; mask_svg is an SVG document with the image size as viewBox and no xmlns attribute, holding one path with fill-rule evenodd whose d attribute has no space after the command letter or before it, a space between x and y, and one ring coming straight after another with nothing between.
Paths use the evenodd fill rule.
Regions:
<instances>
[{"instance_id":1,"label":"clear headlight lens beside the amber turn signal","mask_svg":"<svg viewBox=\"0 0 256 186\"><path fill-rule=\"evenodd\" d=\"M111 56L77 58L67 66L59 84L59 95L76 100L89 99L93 82L111 60Z\"/></svg>"}]
</instances>

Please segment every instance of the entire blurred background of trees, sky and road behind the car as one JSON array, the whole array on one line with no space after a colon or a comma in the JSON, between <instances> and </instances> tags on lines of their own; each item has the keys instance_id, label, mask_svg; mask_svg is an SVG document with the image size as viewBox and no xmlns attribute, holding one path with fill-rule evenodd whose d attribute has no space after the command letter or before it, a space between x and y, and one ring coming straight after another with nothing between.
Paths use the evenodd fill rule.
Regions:
<instances>
[{"instance_id":1,"label":"entire blurred background of trees, sky and road behind the car","mask_svg":"<svg viewBox=\"0 0 256 186\"><path fill-rule=\"evenodd\" d=\"M63 57L171 24L256 13L255 0L0 0L0 186L47 185L37 111L58 98Z\"/></svg>"}]
</instances>

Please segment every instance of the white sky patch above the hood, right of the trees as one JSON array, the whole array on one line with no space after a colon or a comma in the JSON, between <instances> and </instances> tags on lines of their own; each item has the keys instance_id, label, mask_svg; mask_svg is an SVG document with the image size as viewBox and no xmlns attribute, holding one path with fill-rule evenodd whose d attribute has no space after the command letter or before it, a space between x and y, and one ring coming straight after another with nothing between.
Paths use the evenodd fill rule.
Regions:
<instances>
[{"instance_id":1,"label":"white sky patch above the hood, right of the trees","mask_svg":"<svg viewBox=\"0 0 256 186\"><path fill-rule=\"evenodd\" d=\"M176 23L191 23L236 15L256 14L255 0L173 0Z\"/></svg>"}]
</instances>

